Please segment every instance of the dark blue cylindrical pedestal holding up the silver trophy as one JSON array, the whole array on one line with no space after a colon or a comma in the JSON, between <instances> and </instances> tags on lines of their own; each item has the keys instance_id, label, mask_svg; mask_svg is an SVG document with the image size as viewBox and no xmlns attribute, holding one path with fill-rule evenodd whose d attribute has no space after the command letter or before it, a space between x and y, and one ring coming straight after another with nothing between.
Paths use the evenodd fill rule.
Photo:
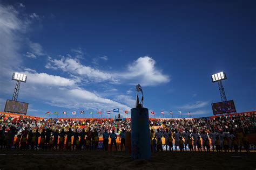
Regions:
<instances>
[{"instance_id":1,"label":"dark blue cylindrical pedestal holding up the silver trophy","mask_svg":"<svg viewBox=\"0 0 256 170\"><path fill-rule=\"evenodd\" d=\"M132 158L150 159L149 109L131 109Z\"/></svg>"}]
</instances>

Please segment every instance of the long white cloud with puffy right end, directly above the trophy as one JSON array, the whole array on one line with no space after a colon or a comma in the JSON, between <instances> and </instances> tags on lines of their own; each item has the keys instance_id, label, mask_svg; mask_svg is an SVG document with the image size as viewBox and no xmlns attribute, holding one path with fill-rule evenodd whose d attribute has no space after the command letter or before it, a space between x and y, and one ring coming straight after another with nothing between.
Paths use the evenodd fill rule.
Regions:
<instances>
[{"instance_id":1,"label":"long white cloud with puffy right end, directly above the trophy","mask_svg":"<svg viewBox=\"0 0 256 170\"><path fill-rule=\"evenodd\" d=\"M140 57L133 61L127 66L125 72L106 72L84 66L78 60L64 56L60 60L49 58L49 63L45 67L62 69L64 72L85 76L95 82L127 83L129 81L130 84L140 83L142 86L158 86L159 83L170 81L170 77L162 74L161 70L156 68L156 61L149 56Z\"/></svg>"}]
</instances>

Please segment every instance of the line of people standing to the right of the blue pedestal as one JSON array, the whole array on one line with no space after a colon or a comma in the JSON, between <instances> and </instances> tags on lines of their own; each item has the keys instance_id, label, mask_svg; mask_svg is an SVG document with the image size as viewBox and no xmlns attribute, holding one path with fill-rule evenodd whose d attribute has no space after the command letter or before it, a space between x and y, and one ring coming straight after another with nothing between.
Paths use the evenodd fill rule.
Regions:
<instances>
[{"instance_id":1,"label":"line of people standing to the right of the blue pedestal","mask_svg":"<svg viewBox=\"0 0 256 170\"><path fill-rule=\"evenodd\" d=\"M238 130L236 133L230 131L229 133L224 133L223 131L214 132L209 131L207 134L205 131L198 133L195 129L192 131L179 132L177 130L166 129L163 132L160 132L157 129L156 134L151 130L151 150L154 151L163 151L163 144L161 138L165 139L165 150L169 148L169 151L173 151L173 146L177 151L177 147L182 152L187 151L202 151L202 148L206 152L212 151L217 152L241 152L242 146L246 152L250 152L249 140L245 133L241 130ZM174 144L174 145L173 145Z\"/></svg>"}]
</instances>

